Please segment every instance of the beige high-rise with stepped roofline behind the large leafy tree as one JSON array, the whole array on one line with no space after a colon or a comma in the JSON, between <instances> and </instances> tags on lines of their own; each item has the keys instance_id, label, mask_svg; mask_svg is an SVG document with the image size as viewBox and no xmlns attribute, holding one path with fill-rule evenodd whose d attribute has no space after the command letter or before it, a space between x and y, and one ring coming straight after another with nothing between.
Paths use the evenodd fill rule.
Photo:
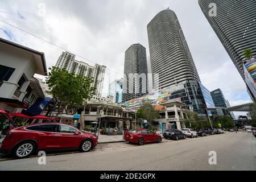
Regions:
<instances>
[{"instance_id":1,"label":"beige high-rise with stepped roofline behind the large leafy tree","mask_svg":"<svg viewBox=\"0 0 256 182\"><path fill-rule=\"evenodd\" d=\"M75 60L75 57L75 55L69 52L61 53L56 63L56 67L67 69L67 71L70 73L72 72L75 74L84 75L85 77L92 77L92 86L96 87L94 96L101 97L106 67L98 64L95 64L93 67L82 61Z\"/></svg>"}]
</instances>

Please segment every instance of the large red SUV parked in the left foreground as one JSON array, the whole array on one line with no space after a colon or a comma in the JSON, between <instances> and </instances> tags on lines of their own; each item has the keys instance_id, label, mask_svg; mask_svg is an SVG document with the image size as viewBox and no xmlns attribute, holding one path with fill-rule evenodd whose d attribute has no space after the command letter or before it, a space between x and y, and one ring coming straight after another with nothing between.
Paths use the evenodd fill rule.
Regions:
<instances>
[{"instance_id":1,"label":"large red SUV parked in the left foreground","mask_svg":"<svg viewBox=\"0 0 256 182\"><path fill-rule=\"evenodd\" d=\"M12 129L0 152L26 158L36 151L77 148L82 152L97 146L97 136L61 123L38 123Z\"/></svg>"}]
</instances>

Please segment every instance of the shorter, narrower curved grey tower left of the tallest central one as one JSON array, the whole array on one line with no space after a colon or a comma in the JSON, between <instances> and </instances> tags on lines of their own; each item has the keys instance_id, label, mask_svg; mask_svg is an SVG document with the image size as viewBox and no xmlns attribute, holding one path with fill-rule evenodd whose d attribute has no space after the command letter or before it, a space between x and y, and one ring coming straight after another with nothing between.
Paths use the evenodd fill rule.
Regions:
<instances>
[{"instance_id":1,"label":"shorter, narrower curved grey tower left of the tallest central one","mask_svg":"<svg viewBox=\"0 0 256 182\"><path fill-rule=\"evenodd\" d=\"M133 44L125 51L122 102L148 93L146 48Z\"/></svg>"}]
</instances>

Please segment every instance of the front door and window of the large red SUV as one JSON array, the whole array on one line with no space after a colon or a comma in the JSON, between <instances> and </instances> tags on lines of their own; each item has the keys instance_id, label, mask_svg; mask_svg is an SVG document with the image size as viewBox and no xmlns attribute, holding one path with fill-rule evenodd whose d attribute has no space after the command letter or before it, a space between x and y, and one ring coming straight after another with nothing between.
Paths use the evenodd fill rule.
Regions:
<instances>
[{"instance_id":1,"label":"front door and window of the large red SUV","mask_svg":"<svg viewBox=\"0 0 256 182\"><path fill-rule=\"evenodd\" d=\"M80 131L77 133L74 127L68 125L59 125L59 131L55 134L56 140L60 148L77 148L79 147L82 135Z\"/></svg>"}]
</instances>

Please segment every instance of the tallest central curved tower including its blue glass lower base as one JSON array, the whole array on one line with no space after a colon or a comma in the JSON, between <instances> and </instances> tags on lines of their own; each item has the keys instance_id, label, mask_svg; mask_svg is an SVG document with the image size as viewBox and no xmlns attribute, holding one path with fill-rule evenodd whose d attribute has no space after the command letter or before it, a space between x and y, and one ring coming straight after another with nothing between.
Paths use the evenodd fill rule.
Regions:
<instances>
[{"instance_id":1,"label":"tallest central curved tower including its blue glass lower base","mask_svg":"<svg viewBox=\"0 0 256 182\"><path fill-rule=\"evenodd\" d=\"M199 115L207 115L200 78L174 11L160 11L147 25L154 90L170 92Z\"/></svg>"}]
</instances>

